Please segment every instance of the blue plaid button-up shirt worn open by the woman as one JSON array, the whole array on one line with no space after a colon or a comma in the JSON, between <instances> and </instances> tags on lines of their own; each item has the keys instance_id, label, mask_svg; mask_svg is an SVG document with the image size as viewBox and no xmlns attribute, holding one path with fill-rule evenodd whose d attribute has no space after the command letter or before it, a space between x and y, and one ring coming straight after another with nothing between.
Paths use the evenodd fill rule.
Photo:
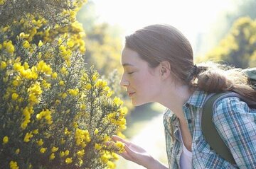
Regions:
<instances>
[{"instance_id":1,"label":"blue plaid button-up shirt worn open by the woman","mask_svg":"<svg viewBox=\"0 0 256 169\"><path fill-rule=\"evenodd\" d=\"M215 153L202 135L201 110L207 95L203 91L195 91L183 105L188 129L193 136L192 168L256 168L256 110L236 97L223 98L215 104L213 122L235 158L236 165L232 165ZM164 129L169 168L180 168L183 146L179 121L169 109L164 112Z\"/></svg>"}]
</instances>

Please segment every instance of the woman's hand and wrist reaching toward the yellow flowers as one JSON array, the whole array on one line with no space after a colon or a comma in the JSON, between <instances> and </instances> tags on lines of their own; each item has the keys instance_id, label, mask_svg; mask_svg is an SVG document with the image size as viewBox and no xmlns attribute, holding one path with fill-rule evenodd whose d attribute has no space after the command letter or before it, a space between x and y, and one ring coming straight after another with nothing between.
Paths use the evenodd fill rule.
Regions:
<instances>
[{"instance_id":1,"label":"woman's hand and wrist reaching toward the yellow flowers","mask_svg":"<svg viewBox=\"0 0 256 169\"><path fill-rule=\"evenodd\" d=\"M132 142L126 141L119 136L112 136L112 139L114 141L121 141L124 143L125 151L118 154L128 161L132 161L148 169L166 168L159 161L156 161L152 156L150 156L142 147L132 144Z\"/></svg>"}]
</instances>

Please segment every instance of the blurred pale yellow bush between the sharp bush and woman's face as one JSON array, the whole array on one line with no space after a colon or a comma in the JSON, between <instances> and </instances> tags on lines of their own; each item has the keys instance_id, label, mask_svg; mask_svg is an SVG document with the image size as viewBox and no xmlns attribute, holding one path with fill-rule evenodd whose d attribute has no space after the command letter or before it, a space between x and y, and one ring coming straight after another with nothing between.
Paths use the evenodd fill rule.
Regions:
<instances>
[{"instance_id":1,"label":"blurred pale yellow bush between the sharp bush and woman's face","mask_svg":"<svg viewBox=\"0 0 256 169\"><path fill-rule=\"evenodd\" d=\"M120 64L122 51L121 28L117 25L100 23L93 1L88 1L86 6L82 6L81 10L78 11L77 18L86 32L85 44L87 49L84 60L87 67L94 64L95 69L108 81L112 91L122 98L124 105L129 108L129 111L132 111L133 107L127 93L124 88L119 86L123 71Z\"/></svg>"}]
</instances>

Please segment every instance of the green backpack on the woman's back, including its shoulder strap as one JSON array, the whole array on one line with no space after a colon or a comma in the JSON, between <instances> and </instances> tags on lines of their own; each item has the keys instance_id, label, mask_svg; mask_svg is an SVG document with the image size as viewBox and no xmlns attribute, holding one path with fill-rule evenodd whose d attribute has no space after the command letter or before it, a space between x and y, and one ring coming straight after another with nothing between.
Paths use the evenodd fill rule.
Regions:
<instances>
[{"instance_id":1,"label":"green backpack on the woman's back, including its shoulder strap","mask_svg":"<svg viewBox=\"0 0 256 169\"><path fill-rule=\"evenodd\" d=\"M244 69L243 71L245 71L245 74L247 74L248 78L250 79L250 84L252 85L252 88L254 88L256 91L256 67L252 69ZM209 95L208 100L206 100L206 103L204 103L203 105L201 128L203 136L205 137L208 144L210 144L210 147L213 148L213 150L218 153L222 158L224 158L225 161L235 164L235 160L230 153L228 146L226 146L223 139L221 139L212 121L214 104L222 98L233 96L245 101L245 103L247 103L250 108L256 108L256 98L255 100L248 100L246 98L243 98L241 95L238 95L238 93L234 92L212 93Z\"/></svg>"}]
</instances>

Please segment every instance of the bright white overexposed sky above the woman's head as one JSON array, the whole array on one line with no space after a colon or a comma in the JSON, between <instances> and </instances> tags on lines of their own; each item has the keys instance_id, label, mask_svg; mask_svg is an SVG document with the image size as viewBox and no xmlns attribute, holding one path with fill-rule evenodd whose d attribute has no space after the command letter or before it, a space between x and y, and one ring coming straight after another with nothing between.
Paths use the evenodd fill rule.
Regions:
<instances>
[{"instance_id":1,"label":"bright white overexposed sky above the woman's head","mask_svg":"<svg viewBox=\"0 0 256 169\"><path fill-rule=\"evenodd\" d=\"M154 23L168 23L181 30L194 46L196 35L207 32L221 11L233 0L92 0L101 21L119 25L126 34Z\"/></svg>"}]
</instances>

